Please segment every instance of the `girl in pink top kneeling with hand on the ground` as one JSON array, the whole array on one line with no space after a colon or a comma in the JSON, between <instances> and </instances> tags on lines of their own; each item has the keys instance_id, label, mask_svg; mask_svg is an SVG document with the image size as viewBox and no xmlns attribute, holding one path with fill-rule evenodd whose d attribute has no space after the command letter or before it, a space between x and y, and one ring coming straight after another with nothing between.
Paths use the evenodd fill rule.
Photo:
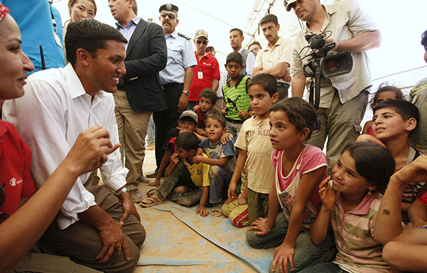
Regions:
<instances>
[{"instance_id":1,"label":"girl in pink top kneeling with hand on the ground","mask_svg":"<svg viewBox=\"0 0 427 273\"><path fill-rule=\"evenodd\" d=\"M299 270L333 256L333 236L313 245L309 228L320 208L317 190L326 177L326 156L305 141L318 127L313 105L289 98L270 111L270 139L273 145L275 184L269 194L269 217L252 223L247 232L251 247L277 247L270 272Z\"/></svg>"}]
</instances>

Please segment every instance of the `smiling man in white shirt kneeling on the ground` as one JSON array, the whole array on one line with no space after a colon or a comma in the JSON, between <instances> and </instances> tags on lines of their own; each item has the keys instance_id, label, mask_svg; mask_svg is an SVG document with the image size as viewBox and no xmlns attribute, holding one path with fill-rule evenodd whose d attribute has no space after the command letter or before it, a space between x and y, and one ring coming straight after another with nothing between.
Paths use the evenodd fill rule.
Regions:
<instances>
[{"instance_id":1,"label":"smiling man in white shirt kneeling on the ground","mask_svg":"<svg viewBox=\"0 0 427 273\"><path fill-rule=\"evenodd\" d=\"M32 176L38 187L81 131L101 125L112 143L118 143L111 93L126 72L125 43L118 30L104 23L70 23L65 37L70 63L32 74L25 95L3 106L5 119L14 123L32 150ZM120 152L102 163L105 187L98 185L96 172L81 175L38 245L96 270L132 272L145 230L127 192Z\"/></svg>"}]
</instances>

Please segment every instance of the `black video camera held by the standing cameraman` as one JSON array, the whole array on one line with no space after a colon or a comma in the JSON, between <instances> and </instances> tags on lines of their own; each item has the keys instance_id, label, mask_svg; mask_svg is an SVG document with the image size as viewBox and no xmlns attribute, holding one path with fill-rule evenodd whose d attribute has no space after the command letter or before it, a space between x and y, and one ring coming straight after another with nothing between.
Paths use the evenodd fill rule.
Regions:
<instances>
[{"instance_id":1,"label":"black video camera held by the standing cameraman","mask_svg":"<svg viewBox=\"0 0 427 273\"><path fill-rule=\"evenodd\" d=\"M320 103L320 78L329 79L331 77L347 74L351 72L351 69L353 68L353 58L351 57L350 52L341 52L328 56L328 52L333 50L336 46L335 42L326 43L326 39L328 38L326 37L326 34L328 33L328 37L330 37L332 34L331 31L322 32L320 34L306 34L305 39L309 45L306 45L302 50L310 48L311 51L304 57L300 57L301 60L311 57L310 61L303 65L303 69L305 76L312 78L309 101L316 109L319 108ZM315 78L315 83L313 78ZM314 103L313 89L315 89Z\"/></svg>"}]
</instances>

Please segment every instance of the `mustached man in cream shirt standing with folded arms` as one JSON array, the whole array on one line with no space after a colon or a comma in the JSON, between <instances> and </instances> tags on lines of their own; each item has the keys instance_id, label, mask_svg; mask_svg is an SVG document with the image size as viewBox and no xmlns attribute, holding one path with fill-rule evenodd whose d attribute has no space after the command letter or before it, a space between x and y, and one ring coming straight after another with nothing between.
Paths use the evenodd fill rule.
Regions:
<instances>
[{"instance_id":1,"label":"mustached man in cream shirt standing with folded arms","mask_svg":"<svg viewBox=\"0 0 427 273\"><path fill-rule=\"evenodd\" d=\"M278 17L274 14L268 14L262 18L260 26L269 43L256 55L253 76L262 73L273 75L278 81L279 99L285 99L288 97L289 83L291 82L291 74L289 73L291 41L279 37L280 25Z\"/></svg>"}]
</instances>

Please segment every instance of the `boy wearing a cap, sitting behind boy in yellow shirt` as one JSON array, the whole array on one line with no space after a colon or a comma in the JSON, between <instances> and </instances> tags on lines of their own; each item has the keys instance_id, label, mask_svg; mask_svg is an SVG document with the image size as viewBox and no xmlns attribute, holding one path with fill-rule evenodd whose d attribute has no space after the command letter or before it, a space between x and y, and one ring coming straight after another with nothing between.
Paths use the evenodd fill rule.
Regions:
<instances>
[{"instance_id":1,"label":"boy wearing a cap, sitting behind boy in yellow shirt","mask_svg":"<svg viewBox=\"0 0 427 273\"><path fill-rule=\"evenodd\" d=\"M180 118L178 120L178 127L172 128L166 134L166 140L162 146L162 150L165 151L165 154L163 154L163 159L160 162L160 166L158 167L156 180L154 182L150 182L148 185L158 187L158 184L160 183L160 178L161 176L163 176L163 173L165 172L165 169L169 164L169 159L171 157L171 154L174 153L174 151L169 151L167 148L167 145L171 141L171 139L175 139L176 136L178 136L178 134L185 131L193 132L194 130L197 129L197 123L198 123L198 117L196 112L191 110L185 110L184 112L181 113ZM201 136L200 134L197 134L197 133L196 133L196 136L198 136L198 139L200 141L203 139L206 139L204 136Z\"/></svg>"}]
</instances>

